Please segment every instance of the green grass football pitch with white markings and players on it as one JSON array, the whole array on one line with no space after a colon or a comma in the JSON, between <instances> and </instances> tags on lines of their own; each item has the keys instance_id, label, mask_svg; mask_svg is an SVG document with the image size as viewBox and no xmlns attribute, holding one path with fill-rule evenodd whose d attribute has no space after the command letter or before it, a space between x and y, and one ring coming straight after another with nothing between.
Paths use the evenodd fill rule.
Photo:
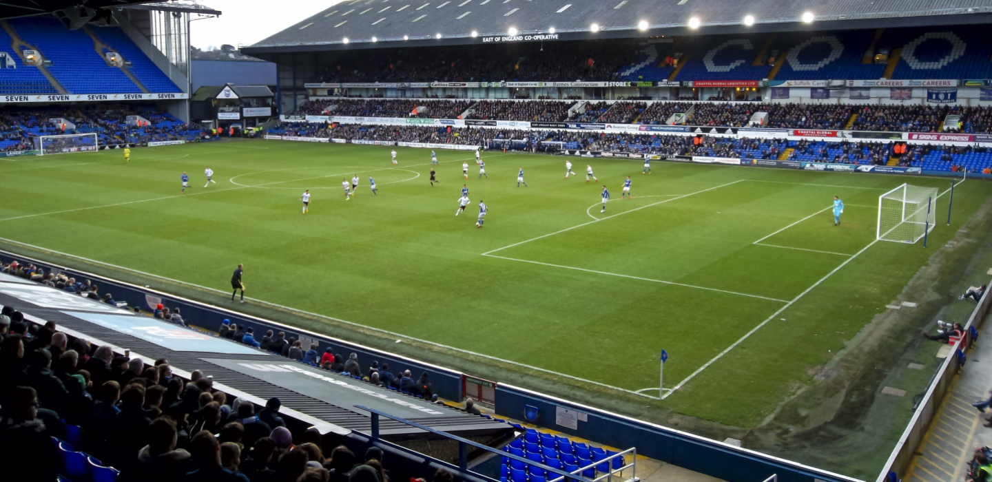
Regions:
<instances>
[{"instance_id":1,"label":"green grass football pitch with white markings and players on it","mask_svg":"<svg viewBox=\"0 0 992 482\"><path fill-rule=\"evenodd\" d=\"M583 158L568 158L577 176L565 179L563 157L489 152L478 179L471 152L438 151L432 186L430 150L397 148L396 167L389 151L225 141L136 149L130 163L119 151L4 159L0 237L217 304L243 263L251 300L625 397L658 397L665 349L663 406L754 426L992 193L959 184L946 226L947 179L662 162L649 176L638 161ZM599 181L585 182L586 164ZM878 196L903 182L941 193L929 249L875 241ZM462 184L471 203L456 216ZM846 205L836 227L834 195Z\"/></svg>"}]
</instances>

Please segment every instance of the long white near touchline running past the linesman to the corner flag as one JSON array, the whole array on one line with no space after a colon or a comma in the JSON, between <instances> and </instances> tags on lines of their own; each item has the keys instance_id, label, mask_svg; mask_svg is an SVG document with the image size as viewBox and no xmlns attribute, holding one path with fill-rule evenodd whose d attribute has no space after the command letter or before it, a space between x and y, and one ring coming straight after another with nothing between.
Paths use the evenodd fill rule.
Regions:
<instances>
[{"instance_id":1,"label":"long white near touchline running past the linesman to the corner flag","mask_svg":"<svg viewBox=\"0 0 992 482\"><path fill-rule=\"evenodd\" d=\"M195 285L195 284L192 284L192 283L186 283L186 282L183 282L183 281L180 281L180 280L176 280L176 279L173 279L173 278L167 278L167 277L164 277L164 276L153 275L151 273L146 273L146 272L139 271L139 270L133 270L131 268L125 268L123 266L112 265L110 263L104 263L102 261L97 261L97 260L90 259L90 258L85 258L85 257L82 257L82 256L76 256L76 255L71 255L71 254L68 254L68 253L62 253L60 251L55 251L55 250L52 250L52 249L43 248L41 246L35 246L33 244L22 243L20 241L14 241L14 240L11 240L11 239L6 239L6 238L0 238L0 241L6 241L6 242L11 243L11 244L19 244L21 246L26 246L26 247L29 247L29 248L35 248L35 249L39 249L39 250L43 250L43 251L48 251L50 253L55 253L55 254L58 254L58 255L61 255L61 256L65 256L65 257L68 257L68 258L75 258L77 260L87 261L89 263L93 263L93 264L97 264L97 265L103 265L103 266L114 268L114 269L117 269L117 270L127 271L127 272L135 273L135 274L138 274L138 275L143 275L143 276L147 276L147 277L151 277L151 278L156 278L156 279L159 279L159 280L165 280L165 281L173 282L173 283L176 283L176 284L179 284L179 285L186 285L187 287L193 287L193 288L197 288L197 289L204 290L204 291L207 291L207 292L218 293L218 294L222 294L224 296L227 295L227 292L222 291L222 290L217 290L217 289L214 289L214 288L208 288L208 287L204 287L204 286L200 286L200 285ZM509 363L511 365L516 365L516 366L519 366L519 367L528 368L528 369L531 369L531 370L536 370L536 371L539 371L539 372L542 372L542 373L548 373L550 375L555 375L557 377L567 378L567 379L570 379L570 380L574 380L576 382L597 385L597 386L600 386L600 387L603 387L603 388L607 388L607 389L611 389L611 390L616 390L618 392L624 392L624 393L628 393L628 394L632 394L632 395L640 395L641 397L645 397L645 398L649 398L649 399L657 399L656 397L651 397L651 396L648 396L648 395L640 394L640 393L637 393L637 392L635 392L633 390L627 390L627 389L620 388L620 387L614 387L612 385L606 385L605 383L596 382L594 380L586 380L584 378L578 378L578 377L575 377L575 376L572 376L572 375L567 375L567 374L564 374L564 373L558 373L558 372L555 372L555 371L552 371L552 370L548 370L548 369L544 369L544 368L541 368L541 367L536 367L536 366L533 366L533 365L527 365L527 364L515 362L515 361L512 361L512 360L507 360L505 358L500 358L500 357L495 357L495 356L491 356L491 355L486 355L486 354L483 354L483 353L477 353L477 352L474 352L474 351L465 350L465 349L461 349L461 348L455 348L453 346L448 346L448 345L444 345L444 344L441 344L441 343L435 343L434 341L428 341L428 340L421 339L421 338L415 338L413 336L405 335L403 333L397 333L395 331L389 331L389 330L385 330L385 329L381 329L381 328L376 328L374 326L368 326L368 325L364 325L364 324L361 324L361 323L356 323L354 321L347 321L347 320L344 320L344 319L341 319L341 318L335 318L333 316L327 316L327 315L324 315L324 314L314 313L314 312L311 312L311 311L306 311L306 310L303 310L303 309L297 309L297 308L294 308L294 307L290 307L290 306L286 306L286 305L278 304L278 303L274 303L274 302L269 302L269 301L262 301L262 300L251 299L251 298L248 299L248 300L254 301L254 302L259 302L259 303L262 303L262 304L267 304L267 305L270 305L270 306L275 306L275 307L278 307L278 308L281 308L281 309L286 309L286 310L289 310L289 311L296 311L296 312L299 312L299 313L308 314L310 316L315 316L315 317L318 317L318 318L330 319L330 320L337 321L337 322L344 323L344 324L348 324L348 325L351 325L351 326L357 326L357 327L360 327L360 328L369 329L369 330L372 330L372 331L377 331L379 333L387 334L387 335L389 335L391 337L397 337L398 336L398 337L401 337L401 338L406 338L408 340L416 341L418 343L424 343L424 344L427 344L427 345L432 345L432 346L436 346L436 347L439 347L439 348L444 348L444 349L447 349L447 350L456 351L456 352L459 352L459 353L465 353L465 354L468 354L468 355L477 356L477 357L481 357L481 358L486 358L486 359L489 359L489 360L494 360L494 361L503 362L503 363Z\"/></svg>"}]
</instances>

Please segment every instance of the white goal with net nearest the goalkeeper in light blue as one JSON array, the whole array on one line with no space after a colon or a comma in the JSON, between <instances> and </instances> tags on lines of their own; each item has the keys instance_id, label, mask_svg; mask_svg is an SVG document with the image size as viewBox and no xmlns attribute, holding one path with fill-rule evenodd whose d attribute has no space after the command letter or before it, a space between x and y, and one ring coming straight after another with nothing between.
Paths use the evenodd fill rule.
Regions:
<instances>
[{"instance_id":1,"label":"white goal with net nearest the goalkeeper in light blue","mask_svg":"<svg viewBox=\"0 0 992 482\"><path fill-rule=\"evenodd\" d=\"M878 231L881 241L916 243L936 220L937 188L903 184L878 196Z\"/></svg>"}]
</instances>

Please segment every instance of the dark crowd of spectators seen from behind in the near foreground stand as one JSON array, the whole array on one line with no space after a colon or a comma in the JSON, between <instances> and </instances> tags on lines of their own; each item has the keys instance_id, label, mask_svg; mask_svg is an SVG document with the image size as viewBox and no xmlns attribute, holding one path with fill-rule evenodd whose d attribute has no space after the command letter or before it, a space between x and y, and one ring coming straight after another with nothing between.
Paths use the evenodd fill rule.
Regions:
<instances>
[{"instance_id":1,"label":"dark crowd of spectators seen from behind in the near foreground stand","mask_svg":"<svg viewBox=\"0 0 992 482\"><path fill-rule=\"evenodd\" d=\"M62 280L30 263L2 270L66 291L78 286L79 295L99 299L88 280ZM160 312L168 307L160 304L157 317ZM220 336L436 400L426 372L415 380L409 370L393 374L388 363L361 367L353 353L317 353L316 345L302 347L283 332L256 340L252 328L228 322ZM281 408L278 398L256 407L228 397L198 370L181 377L167 359L148 365L70 336L56 322L29 321L13 306L0 311L0 462L10 480L51 482L70 473L62 450L84 450L98 460L93 463L120 470L118 480L125 482L390 480L383 449L355 453L338 435L288 423ZM434 482L453 482L453 476L438 469Z\"/></svg>"}]
</instances>

